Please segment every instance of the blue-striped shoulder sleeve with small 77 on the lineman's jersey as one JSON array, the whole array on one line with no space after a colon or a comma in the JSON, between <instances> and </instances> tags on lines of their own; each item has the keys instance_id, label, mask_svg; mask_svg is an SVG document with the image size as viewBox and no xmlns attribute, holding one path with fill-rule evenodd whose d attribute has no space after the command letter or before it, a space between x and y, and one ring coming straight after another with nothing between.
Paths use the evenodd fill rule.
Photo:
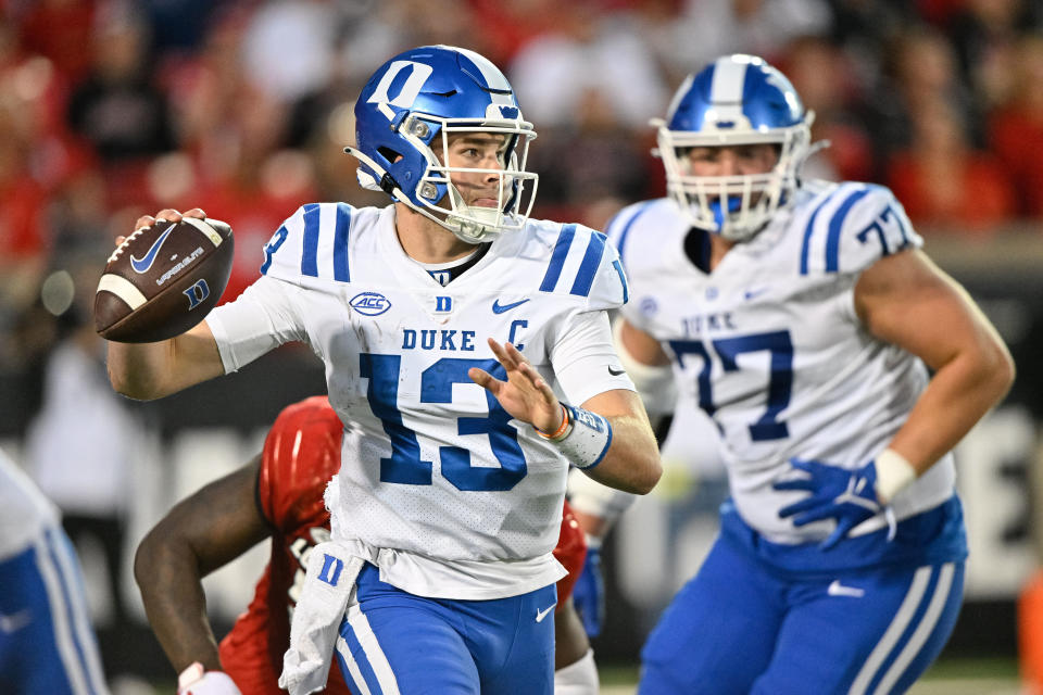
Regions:
<instances>
[{"instance_id":1,"label":"blue-striped shoulder sleeve with small 77 on the lineman's jersey","mask_svg":"<svg viewBox=\"0 0 1043 695\"><path fill-rule=\"evenodd\" d=\"M801 275L857 273L923 240L882 186L844 184L810 205L801 244Z\"/></svg>"}]
</instances>

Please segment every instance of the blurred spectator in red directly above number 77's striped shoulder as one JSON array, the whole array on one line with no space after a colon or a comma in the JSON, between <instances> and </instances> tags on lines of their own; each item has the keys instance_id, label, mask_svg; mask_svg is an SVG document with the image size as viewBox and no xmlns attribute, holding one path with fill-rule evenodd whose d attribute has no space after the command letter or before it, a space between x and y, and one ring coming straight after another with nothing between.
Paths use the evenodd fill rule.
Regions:
<instances>
[{"instance_id":1,"label":"blurred spectator in red directly above number 77's striped shoulder","mask_svg":"<svg viewBox=\"0 0 1043 695\"><path fill-rule=\"evenodd\" d=\"M937 99L913 114L913 144L895 155L888 185L921 230L989 236L1014 215L996 160L971 148L959 114Z\"/></svg>"}]
</instances>

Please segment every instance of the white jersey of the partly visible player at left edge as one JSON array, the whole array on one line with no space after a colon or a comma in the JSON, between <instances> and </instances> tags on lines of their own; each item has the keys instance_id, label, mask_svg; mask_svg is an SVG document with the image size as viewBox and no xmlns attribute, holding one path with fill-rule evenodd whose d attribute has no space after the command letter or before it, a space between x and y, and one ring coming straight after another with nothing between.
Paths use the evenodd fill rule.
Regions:
<instances>
[{"instance_id":1,"label":"white jersey of the partly visible player at left edge","mask_svg":"<svg viewBox=\"0 0 1043 695\"><path fill-rule=\"evenodd\" d=\"M58 507L0 451L0 560L17 555L60 522Z\"/></svg>"}]
</instances>

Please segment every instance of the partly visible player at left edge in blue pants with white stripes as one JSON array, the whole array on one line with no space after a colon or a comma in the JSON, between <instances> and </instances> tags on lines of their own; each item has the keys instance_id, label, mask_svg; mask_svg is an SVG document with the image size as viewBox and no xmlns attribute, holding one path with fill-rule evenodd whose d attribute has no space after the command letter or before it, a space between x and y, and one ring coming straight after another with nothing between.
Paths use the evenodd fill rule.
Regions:
<instances>
[{"instance_id":1,"label":"partly visible player at left edge in blue pants with white stripes","mask_svg":"<svg viewBox=\"0 0 1043 695\"><path fill-rule=\"evenodd\" d=\"M105 695L79 561L58 507L0 451L0 692Z\"/></svg>"}]
</instances>

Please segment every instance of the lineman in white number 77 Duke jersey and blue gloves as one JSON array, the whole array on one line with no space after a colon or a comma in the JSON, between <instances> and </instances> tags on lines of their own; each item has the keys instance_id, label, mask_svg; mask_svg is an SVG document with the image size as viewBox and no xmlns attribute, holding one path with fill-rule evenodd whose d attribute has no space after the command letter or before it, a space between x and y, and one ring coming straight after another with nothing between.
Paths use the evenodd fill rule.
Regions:
<instances>
[{"instance_id":1,"label":"lineman in white number 77 Duke jersey and blue gloves","mask_svg":"<svg viewBox=\"0 0 1043 695\"><path fill-rule=\"evenodd\" d=\"M714 419L732 496L642 695L903 692L959 610L950 450L1014 367L888 189L800 179L810 122L761 59L717 60L659 126L669 197L610 227L620 357Z\"/></svg>"}]
</instances>

